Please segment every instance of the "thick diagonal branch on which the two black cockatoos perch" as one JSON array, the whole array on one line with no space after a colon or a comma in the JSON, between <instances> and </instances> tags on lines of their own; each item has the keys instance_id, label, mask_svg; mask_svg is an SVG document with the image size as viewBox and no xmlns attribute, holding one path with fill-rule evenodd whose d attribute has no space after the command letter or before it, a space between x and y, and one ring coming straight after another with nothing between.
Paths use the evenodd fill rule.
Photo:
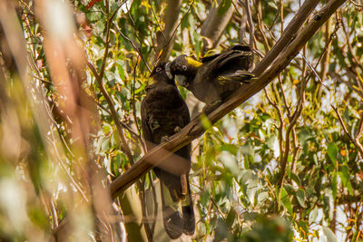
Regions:
<instances>
[{"instance_id":1,"label":"thick diagonal branch on which the two black cockatoos perch","mask_svg":"<svg viewBox=\"0 0 363 242\"><path fill-rule=\"evenodd\" d=\"M289 42L289 45L271 64L270 68L262 73L260 77L248 85L240 87L231 98L224 102L217 110L212 111L208 116L211 123L219 121L224 115L240 106L242 102L248 100L252 95L260 92L267 84L269 84L280 72L282 72L290 63L290 61L299 53L299 50L306 44L311 36L315 34L319 27L324 24L330 15L334 14L338 7L344 4L346 0L332 0L325 5L317 15L315 15L309 24L302 29L296 37ZM293 33L295 34L295 33ZM284 46L283 46L284 47ZM270 65L270 64L269 64ZM259 68L260 64L258 65ZM200 122L200 116L193 119L182 131L173 135L170 141L163 143L146 153L141 160L138 160L132 168L128 169L122 176L113 180L110 185L113 198L116 198L123 190L129 188L137 179L144 175L152 166L159 164L162 160L172 155L171 152L181 149L191 140L199 137L204 128ZM169 151L165 151L169 150ZM155 162L155 163L154 163Z\"/></svg>"}]
</instances>

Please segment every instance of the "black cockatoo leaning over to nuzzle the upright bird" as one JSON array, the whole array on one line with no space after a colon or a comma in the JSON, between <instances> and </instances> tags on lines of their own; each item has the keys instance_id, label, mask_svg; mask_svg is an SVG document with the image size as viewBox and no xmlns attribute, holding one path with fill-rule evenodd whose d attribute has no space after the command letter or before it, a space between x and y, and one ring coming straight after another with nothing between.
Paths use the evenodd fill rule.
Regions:
<instances>
[{"instance_id":1,"label":"black cockatoo leaning over to nuzzle the upright bird","mask_svg":"<svg viewBox=\"0 0 363 242\"><path fill-rule=\"evenodd\" d=\"M180 55L168 65L177 81L201 102L206 103L209 113L221 105L232 92L254 77L249 73L252 51L247 45L233 45L223 53L201 59Z\"/></svg>"}]
</instances>

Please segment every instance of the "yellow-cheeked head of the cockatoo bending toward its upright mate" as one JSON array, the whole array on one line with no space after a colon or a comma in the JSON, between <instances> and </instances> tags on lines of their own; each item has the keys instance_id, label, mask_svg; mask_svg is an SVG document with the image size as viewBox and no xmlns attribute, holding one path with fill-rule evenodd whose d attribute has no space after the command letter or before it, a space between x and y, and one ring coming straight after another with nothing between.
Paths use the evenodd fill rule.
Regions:
<instances>
[{"instance_id":1,"label":"yellow-cheeked head of the cockatoo bending toward its upright mate","mask_svg":"<svg viewBox=\"0 0 363 242\"><path fill-rule=\"evenodd\" d=\"M176 81L182 86L186 86L187 77L194 76L199 67L201 67L200 62L185 54L179 55L168 64L170 73L175 76Z\"/></svg>"}]
</instances>

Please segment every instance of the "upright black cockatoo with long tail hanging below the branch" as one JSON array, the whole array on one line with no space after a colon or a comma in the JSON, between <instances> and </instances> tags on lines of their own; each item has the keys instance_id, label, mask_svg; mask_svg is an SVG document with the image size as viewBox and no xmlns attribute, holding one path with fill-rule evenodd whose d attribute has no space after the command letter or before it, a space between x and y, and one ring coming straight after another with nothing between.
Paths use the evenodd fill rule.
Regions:
<instances>
[{"instance_id":1,"label":"upright black cockatoo with long tail hanging below the branch","mask_svg":"<svg viewBox=\"0 0 363 242\"><path fill-rule=\"evenodd\" d=\"M142 100L142 132L148 150L152 144L160 144L165 138L180 131L190 121L188 107L179 93L171 73L160 63L152 70ZM175 152L170 160L178 161L173 173L159 165L153 170L160 179L162 195L162 218L166 233L175 239L182 233L192 235L195 231L194 210L191 200L189 172L191 170L191 145ZM182 157L182 159L181 159ZM169 160L169 161L170 161ZM168 160L162 162L167 163ZM179 167L180 165L180 167ZM182 213L179 205L182 201Z\"/></svg>"}]
</instances>

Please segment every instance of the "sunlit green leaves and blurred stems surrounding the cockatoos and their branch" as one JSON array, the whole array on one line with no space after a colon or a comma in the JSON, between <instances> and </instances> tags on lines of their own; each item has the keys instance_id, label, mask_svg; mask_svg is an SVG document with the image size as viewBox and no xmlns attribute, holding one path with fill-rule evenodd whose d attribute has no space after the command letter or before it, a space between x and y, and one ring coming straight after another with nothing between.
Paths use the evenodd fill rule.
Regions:
<instances>
[{"instance_id":1,"label":"sunlit green leaves and blurred stems surrounding the cockatoos and their branch","mask_svg":"<svg viewBox=\"0 0 363 242\"><path fill-rule=\"evenodd\" d=\"M168 241L152 172L114 203L107 186L145 153L140 106L157 60L251 36L259 63L301 5L247 1L4 0L0 240ZM362 240L362 12L348 1L192 142L197 229L180 241ZM202 104L180 91L194 117Z\"/></svg>"}]
</instances>

